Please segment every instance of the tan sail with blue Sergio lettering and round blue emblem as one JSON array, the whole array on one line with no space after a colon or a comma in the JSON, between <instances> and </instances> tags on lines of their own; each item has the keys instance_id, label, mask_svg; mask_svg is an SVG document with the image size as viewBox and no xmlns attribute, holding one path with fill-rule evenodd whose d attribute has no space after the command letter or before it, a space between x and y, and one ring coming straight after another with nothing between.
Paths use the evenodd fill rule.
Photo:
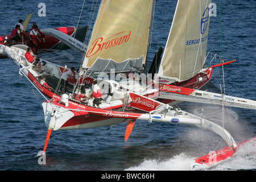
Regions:
<instances>
[{"instance_id":1,"label":"tan sail with blue Sergio lettering and round blue emblem","mask_svg":"<svg viewBox=\"0 0 256 182\"><path fill-rule=\"evenodd\" d=\"M209 31L209 0L178 1L159 77L184 81L205 63Z\"/></svg>"}]
</instances>

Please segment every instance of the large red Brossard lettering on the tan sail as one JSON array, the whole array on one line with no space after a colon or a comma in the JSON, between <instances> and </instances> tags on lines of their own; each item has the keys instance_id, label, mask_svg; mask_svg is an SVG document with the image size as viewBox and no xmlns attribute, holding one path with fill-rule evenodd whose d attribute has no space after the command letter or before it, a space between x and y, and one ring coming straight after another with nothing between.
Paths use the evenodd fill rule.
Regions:
<instances>
[{"instance_id":1,"label":"large red Brossard lettering on the tan sail","mask_svg":"<svg viewBox=\"0 0 256 182\"><path fill-rule=\"evenodd\" d=\"M86 57L90 57L95 55L98 51L102 51L102 49L108 49L110 47L119 46L120 44L126 43L130 39L131 31L129 34L120 36L120 34L124 34L125 32L119 32L110 38L103 40L103 38L98 38L94 40L92 43L92 48L86 53ZM118 36L118 37L117 37Z\"/></svg>"}]
</instances>

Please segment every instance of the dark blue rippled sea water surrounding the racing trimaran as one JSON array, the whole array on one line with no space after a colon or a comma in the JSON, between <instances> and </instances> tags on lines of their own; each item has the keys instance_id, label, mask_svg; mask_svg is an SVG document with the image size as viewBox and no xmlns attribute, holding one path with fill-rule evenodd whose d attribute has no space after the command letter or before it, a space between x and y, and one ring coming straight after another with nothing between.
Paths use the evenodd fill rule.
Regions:
<instances>
[{"instance_id":1,"label":"dark blue rippled sea water surrounding the racing trimaran","mask_svg":"<svg viewBox=\"0 0 256 182\"><path fill-rule=\"evenodd\" d=\"M157 48L166 44L177 1L158 0L155 7L152 46L148 61ZM39 3L46 5L46 16L39 16ZM0 34L7 35L30 13L39 28L77 26L83 1L3 1L0 0ZM98 5L100 2L98 2ZM85 1L79 25L89 25L92 1ZM208 51L236 59L226 65L227 94L256 100L256 2L222 1L217 4L217 16L211 17ZM221 10L221 15L219 14ZM97 11L94 14L96 16ZM220 24L221 19L221 24ZM217 32L216 32L217 30ZM72 49L40 55L60 65L79 67L81 57ZM219 88L214 70L213 84ZM10 59L0 60L0 170L1 171L189 171L189 162L209 151L224 148L220 137L211 131L190 125L148 123L137 121L125 142L127 123L87 130L53 131L46 152L46 164L39 164L38 153L43 150L47 135L40 94ZM212 86L212 89L215 87ZM211 89L211 88L210 88ZM181 109L197 112L208 106L185 103ZM229 127L237 142L256 135L255 110L229 107ZM212 114L213 117L214 114ZM232 158L204 169L256 169L256 145L246 145Z\"/></svg>"}]
</instances>

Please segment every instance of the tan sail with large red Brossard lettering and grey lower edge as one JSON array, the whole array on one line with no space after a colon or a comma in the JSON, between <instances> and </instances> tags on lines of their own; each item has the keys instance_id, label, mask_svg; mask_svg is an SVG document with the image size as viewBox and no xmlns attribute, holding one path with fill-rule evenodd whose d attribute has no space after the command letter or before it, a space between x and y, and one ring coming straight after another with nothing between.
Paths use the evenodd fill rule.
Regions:
<instances>
[{"instance_id":1,"label":"tan sail with large red Brossard lettering and grey lower edge","mask_svg":"<svg viewBox=\"0 0 256 182\"><path fill-rule=\"evenodd\" d=\"M152 0L104 0L82 68L115 72L142 68L154 9Z\"/></svg>"}]
</instances>

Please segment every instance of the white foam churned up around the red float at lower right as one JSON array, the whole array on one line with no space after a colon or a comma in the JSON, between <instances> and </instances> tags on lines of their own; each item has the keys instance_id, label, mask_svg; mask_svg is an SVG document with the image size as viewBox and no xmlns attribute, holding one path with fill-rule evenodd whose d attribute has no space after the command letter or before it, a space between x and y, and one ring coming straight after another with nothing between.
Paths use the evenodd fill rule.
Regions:
<instances>
[{"instance_id":1,"label":"white foam churned up around the red float at lower right","mask_svg":"<svg viewBox=\"0 0 256 182\"><path fill-rule=\"evenodd\" d=\"M127 168L125 171L190 171L189 163L195 158L181 153L168 160L144 159L138 166ZM256 142L250 141L238 148L237 152L231 158L212 167L202 168L201 170L223 171L255 169Z\"/></svg>"}]
</instances>

